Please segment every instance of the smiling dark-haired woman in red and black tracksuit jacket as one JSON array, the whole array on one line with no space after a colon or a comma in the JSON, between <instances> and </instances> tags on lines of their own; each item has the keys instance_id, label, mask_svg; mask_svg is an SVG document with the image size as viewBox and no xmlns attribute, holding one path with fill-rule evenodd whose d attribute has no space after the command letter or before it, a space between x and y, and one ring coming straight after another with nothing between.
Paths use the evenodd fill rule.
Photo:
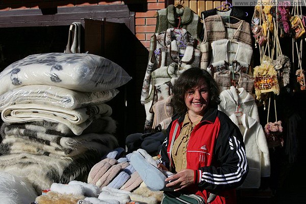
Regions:
<instances>
[{"instance_id":1,"label":"smiling dark-haired woman in red and black tracksuit jacket","mask_svg":"<svg viewBox=\"0 0 306 204\"><path fill-rule=\"evenodd\" d=\"M206 70L190 68L176 80L174 110L158 167L176 173L166 187L196 194L211 203L236 203L236 190L248 172L239 127L218 111L219 88ZM171 159L169 159L171 158ZM165 192L167 193L167 192Z\"/></svg>"}]
</instances>

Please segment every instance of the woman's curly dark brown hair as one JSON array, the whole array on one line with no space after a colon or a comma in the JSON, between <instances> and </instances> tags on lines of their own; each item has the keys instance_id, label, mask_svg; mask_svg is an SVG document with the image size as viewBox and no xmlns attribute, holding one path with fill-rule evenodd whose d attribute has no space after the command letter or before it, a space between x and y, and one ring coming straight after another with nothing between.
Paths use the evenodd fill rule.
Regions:
<instances>
[{"instance_id":1,"label":"woman's curly dark brown hair","mask_svg":"<svg viewBox=\"0 0 306 204\"><path fill-rule=\"evenodd\" d=\"M172 88L171 106L174 113L184 115L187 112L185 104L185 93L188 89L196 87L201 80L204 80L209 87L209 107L217 108L220 104L220 89L212 75L204 69L193 67L185 70L175 81Z\"/></svg>"}]
</instances>

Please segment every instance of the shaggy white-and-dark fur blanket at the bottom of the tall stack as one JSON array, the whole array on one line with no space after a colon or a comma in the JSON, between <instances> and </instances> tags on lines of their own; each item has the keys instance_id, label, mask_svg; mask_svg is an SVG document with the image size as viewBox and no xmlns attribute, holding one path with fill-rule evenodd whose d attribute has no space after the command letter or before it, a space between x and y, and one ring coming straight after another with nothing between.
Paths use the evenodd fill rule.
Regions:
<instances>
[{"instance_id":1,"label":"shaggy white-and-dark fur blanket at the bottom of the tall stack","mask_svg":"<svg viewBox=\"0 0 306 204\"><path fill-rule=\"evenodd\" d=\"M37 193L41 193L53 183L68 184L73 180L85 182L91 167L102 156L92 150L70 159L26 153L3 155L0 157L0 171L27 177Z\"/></svg>"}]
</instances>

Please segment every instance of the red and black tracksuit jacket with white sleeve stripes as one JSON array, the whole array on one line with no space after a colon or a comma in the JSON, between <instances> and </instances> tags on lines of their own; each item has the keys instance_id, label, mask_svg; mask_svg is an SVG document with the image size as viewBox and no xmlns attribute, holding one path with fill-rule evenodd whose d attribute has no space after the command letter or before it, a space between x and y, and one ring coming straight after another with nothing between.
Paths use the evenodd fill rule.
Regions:
<instances>
[{"instance_id":1,"label":"red and black tracksuit jacket with white sleeve stripes","mask_svg":"<svg viewBox=\"0 0 306 204\"><path fill-rule=\"evenodd\" d=\"M160 151L159 162L169 168L171 147L179 136L185 115L174 115L167 128L167 137ZM248 172L245 146L239 127L223 112L208 109L192 130L187 145L187 168L194 170L194 186L190 193L206 200L209 193L217 194L211 203L236 203L235 188L240 186ZM171 162L170 162L171 161Z\"/></svg>"}]
</instances>

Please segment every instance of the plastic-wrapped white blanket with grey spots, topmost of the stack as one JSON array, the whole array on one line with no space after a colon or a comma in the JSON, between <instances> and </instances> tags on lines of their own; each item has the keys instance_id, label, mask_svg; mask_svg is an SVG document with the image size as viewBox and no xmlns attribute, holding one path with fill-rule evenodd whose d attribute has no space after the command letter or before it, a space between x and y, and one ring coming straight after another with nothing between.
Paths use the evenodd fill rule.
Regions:
<instances>
[{"instance_id":1,"label":"plastic-wrapped white blanket with grey spots, topmost of the stack","mask_svg":"<svg viewBox=\"0 0 306 204\"><path fill-rule=\"evenodd\" d=\"M120 87L132 78L116 63L85 53L44 53L18 60L0 73L0 94L20 86L51 85L96 92Z\"/></svg>"}]
</instances>

